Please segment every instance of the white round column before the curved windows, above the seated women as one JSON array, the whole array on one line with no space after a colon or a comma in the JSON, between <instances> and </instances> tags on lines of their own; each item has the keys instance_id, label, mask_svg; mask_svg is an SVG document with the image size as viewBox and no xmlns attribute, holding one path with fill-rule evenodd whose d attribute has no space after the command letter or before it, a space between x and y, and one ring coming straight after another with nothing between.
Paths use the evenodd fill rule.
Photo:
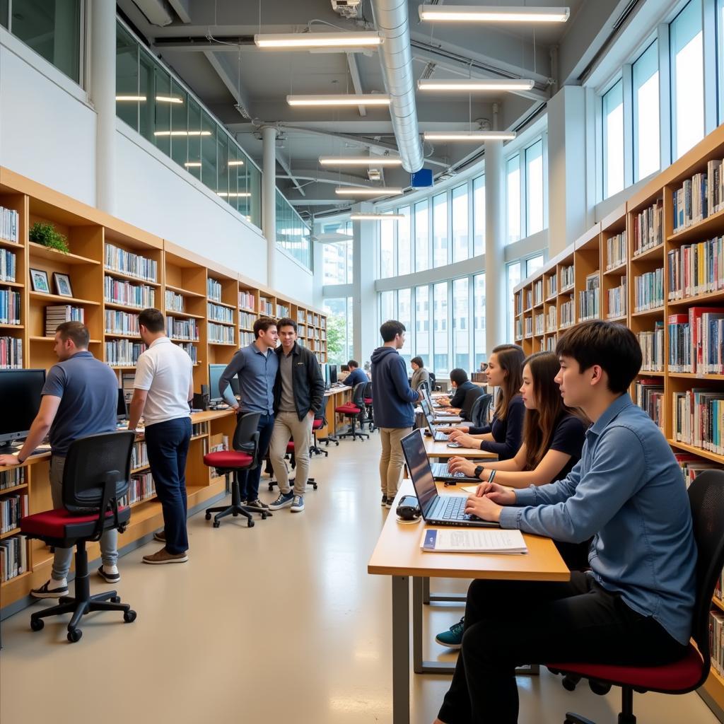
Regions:
<instances>
[{"instance_id":1,"label":"white round column before the curved windows, above the seated women","mask_svg":"<svg viewBox=\"0 0 724 724\"><path fill-rule=\"evenodd\" d=\"M485 142L485 349L505 342L505 174L502 141Z\"/></svg>"}]
</instances>

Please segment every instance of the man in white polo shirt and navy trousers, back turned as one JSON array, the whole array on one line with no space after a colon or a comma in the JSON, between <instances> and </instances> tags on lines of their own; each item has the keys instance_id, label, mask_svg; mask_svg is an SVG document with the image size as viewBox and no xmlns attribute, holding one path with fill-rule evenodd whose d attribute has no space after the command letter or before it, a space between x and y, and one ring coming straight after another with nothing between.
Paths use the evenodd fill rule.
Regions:
<instances>
[{"instance_id":1,"label":"man in white polo shirt and navy trousers, back turned","mask_svg":"<svg viewBox=\"0 0 724 724\"><path fill-rule=\"evenodd\" d=\"M193 363L187 353L166 336L164 315L144 309L138 315L140 337L148 346L136 363L128 429L146 421L146 449L156 494L164 513L164 533L156 539L165 546L143 563L185 563L186 455L191 439L189 400L193 397Z\"/></svg>"}]
</instances>

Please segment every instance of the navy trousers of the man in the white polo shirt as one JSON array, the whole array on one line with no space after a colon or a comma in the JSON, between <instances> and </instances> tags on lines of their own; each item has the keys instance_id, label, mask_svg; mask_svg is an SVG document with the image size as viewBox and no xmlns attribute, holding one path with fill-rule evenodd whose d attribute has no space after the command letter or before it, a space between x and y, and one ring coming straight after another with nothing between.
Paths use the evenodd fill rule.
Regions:
<instances>
[{"instance_id":1,"label":"navy trousers of the man in the white polo shirt","mask_svg":"<svg viewBox=\"0 0 724 724\"><path fill-rule=\"evenodd\" d=\"M148 465L156 483L156 495L164 513L166 550L188 550L186 533L186 455L191 439L191 420L180 417L146 427Z\"/></svg>"}]
</instances>

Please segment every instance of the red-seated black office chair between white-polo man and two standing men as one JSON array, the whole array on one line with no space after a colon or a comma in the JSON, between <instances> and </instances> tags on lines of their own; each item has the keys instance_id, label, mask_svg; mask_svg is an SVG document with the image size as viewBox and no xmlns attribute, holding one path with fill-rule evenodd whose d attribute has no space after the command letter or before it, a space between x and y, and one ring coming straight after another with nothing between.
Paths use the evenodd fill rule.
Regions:
<instances>
[{"instance_id":1,"label":"red-seated black office chair between white-polo man and two standing men","mask_svg":"<svg viewBox=\"0 0 724 724\"><path fill-rule=\"evenodd\" d=\"M259 460L259 433L257 430L259 424L258 412L248 412L237 416L236 429L234 431L234 439L232 442L233 450L219 450L218 452L207 452L203 456L203 464L209 468L216 468L216 472L221 473L226 478L227 492L229 492L229 477L232 476L231 482L231 505L222 505L219 508L206 508L205 518L211 520L211 514L214 515L214 528L221 525L222 518L227 515L243 515L246 518L247 528L253 528L254 521L251 519L252 513L260 513L261 519L266 520L267 515L271 515L269 510L257 510L256 508L247 508L241 503L241 492L239 489L239 472L244 470L253 470L258 466Z\"/></svg>"}]
</instances>

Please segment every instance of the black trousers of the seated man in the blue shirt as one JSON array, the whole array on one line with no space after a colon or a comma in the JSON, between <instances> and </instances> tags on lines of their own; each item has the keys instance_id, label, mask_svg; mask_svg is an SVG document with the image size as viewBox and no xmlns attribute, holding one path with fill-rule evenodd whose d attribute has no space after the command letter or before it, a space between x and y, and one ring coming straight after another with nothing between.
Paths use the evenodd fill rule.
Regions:
<instances>
[{"instance_id":1,"label":"black trousers of the seated man in the blue shirt","mask_svg":"<svg viewBox=\"0 0 724 724\"><path fill-rule=\"evenodd\" d=\"M463 647L438 717L445 724L515 724L515 667L585 661L665 664L686 647L592 576L571 581L473 581ZM563 716L563 714L562 714Z\"/></svg>"}]
</instances>

